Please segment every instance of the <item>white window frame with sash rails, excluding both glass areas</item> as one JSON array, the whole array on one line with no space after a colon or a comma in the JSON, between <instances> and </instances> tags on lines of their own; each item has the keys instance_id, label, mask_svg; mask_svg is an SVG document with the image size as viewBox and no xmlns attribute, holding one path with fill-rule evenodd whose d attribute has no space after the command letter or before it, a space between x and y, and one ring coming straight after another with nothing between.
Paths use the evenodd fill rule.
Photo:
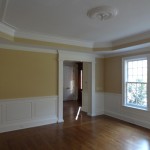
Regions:
<instances>
[{"instance_id":1,"label":"white window frame with sash rails, excluding both glass areas","mask_svg":"<svg viewBox=\"0 0 150 150\"><path fill-rule=\"evenodd\" d=\"M146 80L141 80L141 81L128 81L128 62L130 61L140 61L140 60L147 60L147 79ZM150 72L150 54L146 55L137 55L137 56L129 56L129 57L124 57L122 59L122 105L125 107L130 107L134 109L141 109L141 110L150 110L150 84L149 84L149 72ZM140 106L140 105L134 105L132 103L127 103L127 83L143 83L146 86L146 98L147 98L147 103L145 106Z\"/></svg>"}]
</instances>

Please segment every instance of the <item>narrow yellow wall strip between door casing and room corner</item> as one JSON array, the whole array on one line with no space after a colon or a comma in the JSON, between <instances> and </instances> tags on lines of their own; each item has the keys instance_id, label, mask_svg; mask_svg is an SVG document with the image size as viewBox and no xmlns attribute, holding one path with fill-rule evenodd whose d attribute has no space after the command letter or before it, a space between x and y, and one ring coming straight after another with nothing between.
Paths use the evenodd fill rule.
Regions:
<instances>
[{"instance_id":1,"label":"narrow yellow wall strip between door casing and room corner","mask_svg":"<svg viewBox=\"0 0 150 150\"><path fill-rule=\"evenodd\" d=\"M97 92L104 92L104 58L96 58L95 89Z\"/></svg>"}]
</instances>

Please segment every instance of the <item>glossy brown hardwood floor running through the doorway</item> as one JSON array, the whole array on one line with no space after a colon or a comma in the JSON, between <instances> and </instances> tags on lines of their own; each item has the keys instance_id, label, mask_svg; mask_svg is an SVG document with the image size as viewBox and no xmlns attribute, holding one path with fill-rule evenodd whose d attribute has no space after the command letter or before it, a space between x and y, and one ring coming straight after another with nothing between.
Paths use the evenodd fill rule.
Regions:
<instances>
[{"instance_id":1,"label":"glossy brown hardwood floor running through the doorway","mask_svg":"<svg viewBox=\"0 0 150 150\"><path fill-rule=\"evenodd\" d=\"M64 103L64 123L0 134L0 150L150 150L150 130L108 117L89 117ZM69 115L70 114L70 115Z\"/></svg>"}]
</instances>

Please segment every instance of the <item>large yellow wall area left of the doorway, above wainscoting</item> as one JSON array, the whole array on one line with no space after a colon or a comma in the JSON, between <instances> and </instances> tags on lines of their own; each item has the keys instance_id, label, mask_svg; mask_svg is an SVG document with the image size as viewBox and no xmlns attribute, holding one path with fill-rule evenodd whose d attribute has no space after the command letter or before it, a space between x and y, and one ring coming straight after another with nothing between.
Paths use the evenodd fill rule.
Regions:
<instances>
[{"instance_id":1,"label":"large yellow wall area left of the doorway, above wainscoting","mask_svg":"<svg viewBox=\"0 0 150 150\"><path fill-rule=\"evenodd\" d=\"M0 99L57 95L57 54L0 49Z\"/></svg>"}]
</instances>

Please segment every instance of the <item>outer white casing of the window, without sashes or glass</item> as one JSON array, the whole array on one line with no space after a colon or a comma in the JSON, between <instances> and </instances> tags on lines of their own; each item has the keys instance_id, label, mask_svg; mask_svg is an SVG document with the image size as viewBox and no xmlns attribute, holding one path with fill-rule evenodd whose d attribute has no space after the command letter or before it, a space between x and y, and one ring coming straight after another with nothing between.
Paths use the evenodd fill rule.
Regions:
<instances>
[{"instance_id":1,"label":"outer white casing of the window, without sashes or glass","mask_svg":"<svg viewBox=\"0 0 150 150\"><path fill-rule=\"evenodd\" d=\"M126 81L127 81L127 62L128 61L134 61L134 60L142 60L147 59L147 107L141 107L136 105L128 105L126 103ZM122 59L122 105L125 107L130 107L134 109L140 109L148 111L150 110L150 82L149 82L149 69L150 68L150 54L147 55L137 55L137 56L131 56L131 57L124 57Z\"/></svg>"}]
</instances>

